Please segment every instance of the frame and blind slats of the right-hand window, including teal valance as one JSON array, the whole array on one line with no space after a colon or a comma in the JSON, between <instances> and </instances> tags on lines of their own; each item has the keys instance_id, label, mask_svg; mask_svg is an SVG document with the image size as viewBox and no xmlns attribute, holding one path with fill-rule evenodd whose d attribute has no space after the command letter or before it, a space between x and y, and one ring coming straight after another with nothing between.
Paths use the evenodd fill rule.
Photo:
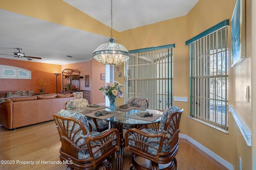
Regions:
<instances>
[{"instance_id":1,"label":"frame and blind slats of the right-hand window, including teal valance","mask_svg":"<svg viewBox=\"0 0 256 170\"><path fill-rule=\"evenodd\" d=\"M205 44L203 44L203 46L199 46L200 48L202 48L202 49L204 49L204 48L207 48L206 46L207 46L207 39L206 39L206 36L209 36L210 37L210 35L212 34L213 36L214 36L214 33L216 33L216 35L218 35L218 32L217 31L219 31L219 30L222 30L222 28L224 28L224 27L228 27L228 25L229 25L229 20L224 20L224 21L222 21L221 23L218 23L217 25L215 25L214 27L211 27L210 29L208 29L208 30L206 30L206 31L204 31L203 33L201 33L201 34L199 34L199 35L197 35L196 37L193 37L192 39L190 39L190 40L188 40L188 41L186 41L186 45L190 45L190 117L192 118L192 119L194 119L194 120L196 120L196 121L199 121L199 122L201 122L201 123L204 123L204 124L206 124L206 125L209 125L210 127L214 127L215 129L218 129L218 130L220 130L220 131L222 131L222 132L224 132L224 133L227 133L228 132L228 94L227 94L227 91L228 91L228 86L227 86L227 83L228 83L228 28L226 28L226 51L224 50L224 52L225 52L225 57L226 57L226 63L225 63L225 75L223 76L222 74L220 75L220 74L217 74L217 76L216 75L212 75L212 76L208 76L207 75L207 77L209 77L209 78L211 78L211 77L215 77L215 79L216 79L216 77L225 77L226 79L225 79L225 83L226 83L226 88L225 88L225 94L221 94L221 97L223 97L224 96L224 98L225 98L225 111L224 111L224 125L223 125L223 119L222 119L222 116L223 116L223 111L221 112L222 114L220 115L220 117L221 117L221 123L219 123L219 121L217 120L217 118L218 118L218 116L219 116L219 112L218 112L218 110L216 111L216 109L215 109L215 111L214 111L214 108L216 107L216 106L218 106L218 98L214 98L214 100L211 100L210 99L210 97L209 98L204 98L203 100L201 100L201 101L209 101L209 103L208 104L202 104L202 103L200 103L201 105L203 105L203 106L198 106L198 105L200 105L200 104L198 104L199 103L199 98L203 98L203 96L205 95L205 93L210 93L210 90L209 90L209 92L207 92L208 90L205 90L205 89L210 89L210 83L209 84L207 84L207 87L208 88L205 88L205 87L201 87L200 88L200 90L198 90L198 89L195 89L196 87L194 87L194 83L198 83L198 82L195 82L195 80L194 80L194 72L195 72L195 70L196 70L196 68L194 68L194 59L196 59L196 58L194 58L194 55L196 54L195 53L195 51L194 51L194 43L196 43L196 42L201 42L201 41L203 41L202 42L202 44L203 43L206 43L206 45ZM204 39L205 38L205 39ZM204 42L205 41L205 42ZM202 44L200 44L200 45L202 45ZM215 44L214 44L215 45ZM214 46L213 45L213 46ZM209 49L211 49L210 48L210 45L209 45ZM212 51L213 51L213 54L212 55L214 55L214 50L218 50L219 49L219 47L217 47L217 48L213 48L212 49ZM221 49L222 50L222 49ZM200 51L198 52L198 53L200 53ZM221 51L221 53L222 53L222 51ZM216 53L216 54L218 54L218 52ZM201 54L202 55L202 54ZM210 54L210 51L209 51L209 54L207 54L207 55L202 55L203 57L205 57L204 59L202 59L202 60L205 60L206 58L207 58L207 56L209 57L209 63L210 63L210 56L211 56L211 54ZM216 55L216 57L214 58L214 59L218 59L218 56ZM198 63L200 63L200 61L198 61ZM222 63L223 64L223 63ZM202 66L202 63L200 63L200 65L199 66ZM204 69L205 68L208 68L207 70L210 70L211 68L211 65L210 64L207 64L207 62L206 63L203 63L203 66L204 66ZM223 66L223 65L222 65ZM201 67L202 68L202 67ZM216 69L218 68L218 65L216 66ZM198 70L197 70L198 71ZM200 72L202 72L202 70L199 70ZM205 71L205 70L204 70ZM202 73L198 73L199 75L200 74L202 74ZM203 73L203 74L205 74L205 73ZM198 75L197 75L198 76ZM200 76L199 76L200 77ZM202 77L202 78L201 78ZM199 79L198 79L198 81L203 81L204 79L203 79L203 75L201 76ZM223 79L222 79L223 80ZM221 80L221 82L223 82ZM204 83L203 83L204 84ZM196 84L196 85L200 85L200 83L199 84ZM216 83L215 83L215 85L216 85ZM216 89L216 88L214 88L214 89ZM199 96L195 96L195 92L197 92L196 90L198 90L198 91L201 91L201 93L199 93ZM214 95L216 96L216 92L214 93ZM213 96L214 96L213 95ZM209 95L210 96L210 95ZM197 100L198 100L198 102L197 102L197 100L195 99L195 98L197 98ZM214 103L215 103L215 105L213 105L212 107L213 107L213 111L212 111L212 113L210 113L211 111L210 111L210 108L211 108L211 104L210 104L210 101L214 101ZM197 102L197 105L195 105L196 104L196 102ZM216 104L216 102L217 102L217 104ZM207 103L207 102L206 102ZM198 108L204 108L204 109L195 109L196 107L198 107ZM197 113L194 113L194 111L197 111ZM208 115L209 114L209 115ZM215 119L214 118L212 118L214 121L211 121L211 119L210 119L210 115L212 114L212 116L215 116ZM207 117L208 116L208 117ZM217 118L216 118L217 117Z\"/></svg>"}]
</instances>

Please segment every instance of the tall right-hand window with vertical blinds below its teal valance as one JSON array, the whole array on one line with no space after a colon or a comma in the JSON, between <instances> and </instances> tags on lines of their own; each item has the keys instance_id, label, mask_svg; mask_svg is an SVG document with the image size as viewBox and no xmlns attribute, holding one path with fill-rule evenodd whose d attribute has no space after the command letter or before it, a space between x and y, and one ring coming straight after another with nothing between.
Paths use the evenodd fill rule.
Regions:
<instances>
[{"instance_id":1,"label":"tall right-hand window with vertical blinds below its teal valance","mask_svg":"<svg viewBox=\"0 0 256 170\"><path fill-rule=\"evenodd\" d=\"M190 116L228 130L228 26L190 43Z\"/></svg>"}]
</instances>

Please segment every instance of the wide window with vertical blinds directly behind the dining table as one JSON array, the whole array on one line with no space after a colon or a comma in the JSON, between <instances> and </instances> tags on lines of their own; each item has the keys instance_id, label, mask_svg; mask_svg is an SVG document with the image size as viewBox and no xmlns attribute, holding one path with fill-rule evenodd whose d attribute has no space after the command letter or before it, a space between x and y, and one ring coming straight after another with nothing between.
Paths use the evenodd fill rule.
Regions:
<instances>
[{"instance_id":1,"label":"wide window with vertical blinds directly behind the dining table","mask_svg":"<svg viewBox=\"0 0 256 170\"><path fill-rule=\"evenodd\" d=\"M146 98L150 109L172 106L172 51L174 44L129 51L126 62L127 98Z\"/></svg>"}]
</instances>

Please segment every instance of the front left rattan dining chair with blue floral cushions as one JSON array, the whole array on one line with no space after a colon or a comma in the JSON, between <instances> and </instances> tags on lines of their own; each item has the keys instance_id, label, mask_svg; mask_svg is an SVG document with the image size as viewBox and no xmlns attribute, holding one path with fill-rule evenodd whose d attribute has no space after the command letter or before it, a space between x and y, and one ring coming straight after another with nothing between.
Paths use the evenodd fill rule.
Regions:
<instances>
[{"instance_id":1,"label":"front left rattan dining chair with blue floral cushions","mask_svg":"<svg viewBox=\"0 0 256 170\"><path fill-rule=\"evenodd\" d=\"M111 155L120 149L120 133L89 131L86 117L78 112L60 110L53 115L60 135L60 160L66 169L100 170L112 168Z\"/></svg>"}]
</instances>

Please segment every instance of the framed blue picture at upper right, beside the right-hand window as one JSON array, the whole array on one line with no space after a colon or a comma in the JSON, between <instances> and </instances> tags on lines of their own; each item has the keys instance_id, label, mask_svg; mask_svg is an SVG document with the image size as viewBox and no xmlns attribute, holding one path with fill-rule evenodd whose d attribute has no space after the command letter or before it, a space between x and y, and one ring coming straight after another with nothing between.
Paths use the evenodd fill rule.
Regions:
<instances>
[{"instance_id":1,"label":"framed blue picture at upper right, beside the right-hand window","mask_svg":"<svg viewBox=\"0 0 256 170\"><path fill-rule=\"evenodd\" d=\"M231 66L237 66L245 59L245 0L236 0L231 18Z\"/></svg>"}]
</instances>

